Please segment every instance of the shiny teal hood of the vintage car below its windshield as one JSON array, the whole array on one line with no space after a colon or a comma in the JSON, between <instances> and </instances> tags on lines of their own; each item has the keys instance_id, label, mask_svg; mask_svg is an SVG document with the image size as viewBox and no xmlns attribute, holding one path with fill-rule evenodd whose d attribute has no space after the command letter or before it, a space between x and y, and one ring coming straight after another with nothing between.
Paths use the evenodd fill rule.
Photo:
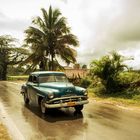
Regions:
<instances>
[{"instance_id":1,"label":"shiny teal hood of the vintage car below its windshield","mask_svg":"<svg viewBox=\"0 0 140 140\"><path fill-rule=\"evenodd\" d=\"M75 86L72 83L64 82L50 82L40 83L39 89L41 91L54 92L57 96L74 95L76 94Z\"/></svg>"}]
</instances>

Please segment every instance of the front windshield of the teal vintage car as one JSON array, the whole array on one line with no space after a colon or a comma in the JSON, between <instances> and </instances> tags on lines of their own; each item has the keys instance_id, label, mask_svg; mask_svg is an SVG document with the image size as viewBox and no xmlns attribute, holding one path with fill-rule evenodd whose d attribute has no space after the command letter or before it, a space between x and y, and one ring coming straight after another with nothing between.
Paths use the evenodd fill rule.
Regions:
<instances>
[{"instance_id":1,"label":"front windshield of the teal vintage car","mask_svg":"<svg viewBox=\"0 0 140 140\"><path fill-rule=\"evenodd\" d=\"M39 77L39 83L48 82L68 82L68 79L65 75L45 75Z\"/></svg>"}]
</instances>

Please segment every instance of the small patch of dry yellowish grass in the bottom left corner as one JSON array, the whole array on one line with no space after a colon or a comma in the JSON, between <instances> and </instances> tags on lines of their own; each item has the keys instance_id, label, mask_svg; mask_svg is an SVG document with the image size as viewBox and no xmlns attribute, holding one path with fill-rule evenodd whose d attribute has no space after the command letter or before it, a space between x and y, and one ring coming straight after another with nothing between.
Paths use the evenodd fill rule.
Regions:
<instances>
[{"instance_id":1,"label":"small patch of dry yellowish grass in the bottom left corner","mask_svg":"<svg viewBox=\"0 0 140 140\"><path fill-rule=\"evenodd\" d=\"M2 123L0 123L0 140L11 140L7 133L7 129Z\"/></svg>"}]
</instances>

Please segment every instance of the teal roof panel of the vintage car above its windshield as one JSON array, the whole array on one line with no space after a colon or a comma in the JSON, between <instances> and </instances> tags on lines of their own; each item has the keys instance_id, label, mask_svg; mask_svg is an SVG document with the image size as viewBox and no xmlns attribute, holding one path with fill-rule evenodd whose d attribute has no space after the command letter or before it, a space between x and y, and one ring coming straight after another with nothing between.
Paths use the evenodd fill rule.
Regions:
<instances>
[{"instance_id":1,"label":"teal roof panel of the vintage car above its windshield","mask_svg":"<svg viewBox=\"0 0 140 140\"><path fill-rule=\"evenodd\" d=\"M45 75L45 74L64 74L64 72L60 71L36 71L30 73L30 75Z\"/></svg>"}]
</instances>

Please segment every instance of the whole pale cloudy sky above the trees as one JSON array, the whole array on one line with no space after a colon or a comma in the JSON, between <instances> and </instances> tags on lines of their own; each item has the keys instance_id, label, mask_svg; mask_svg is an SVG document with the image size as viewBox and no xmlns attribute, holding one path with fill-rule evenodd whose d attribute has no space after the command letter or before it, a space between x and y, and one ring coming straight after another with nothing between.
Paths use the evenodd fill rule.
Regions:
<instances>
[{"instance_id":1,"label":"whole pale cloudy sky above the trees","mask_svg":"<svg viewBox=\"0 0 140 140\"><path fill-rule=\"evenodd\" d=\"M140 0L0 0L0 35L10 34L22 43L24 30L41 8L59 8L79 41L79 63L116 50L134 58L140 68Z\"/></svg>"}]
</instances>

